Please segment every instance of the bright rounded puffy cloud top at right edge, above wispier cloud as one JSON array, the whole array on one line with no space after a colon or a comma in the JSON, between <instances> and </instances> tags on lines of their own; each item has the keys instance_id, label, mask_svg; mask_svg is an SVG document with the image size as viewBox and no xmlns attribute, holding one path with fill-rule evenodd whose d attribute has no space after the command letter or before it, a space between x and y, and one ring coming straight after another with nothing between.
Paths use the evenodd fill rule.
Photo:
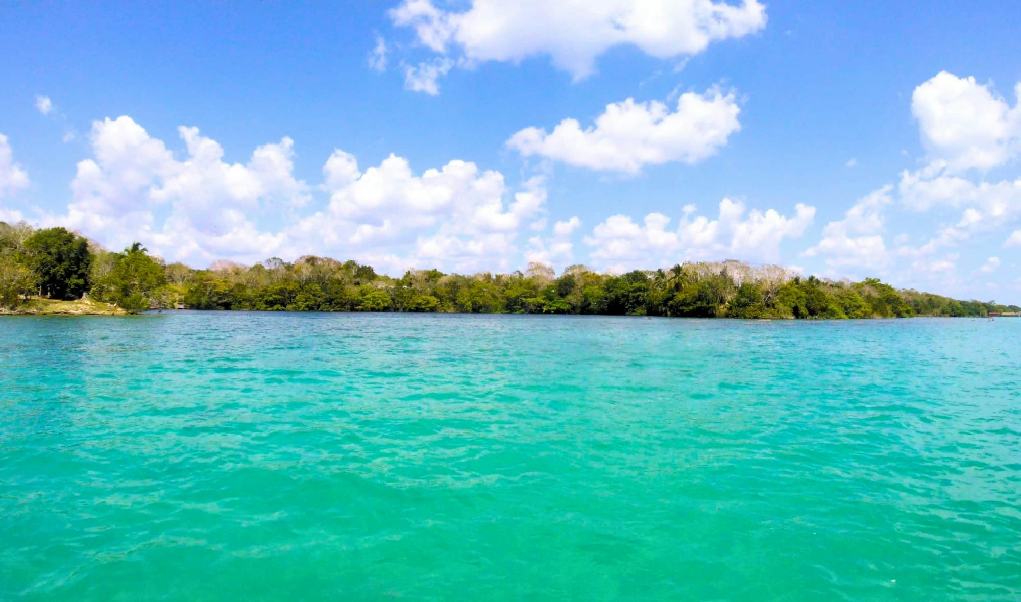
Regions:
<instances>
[{"instance_id":1,"label":"bright rounded puffy cloud top at right edge, above wispier cloud","mask_svg":"<svg viewBox=\"0 0 1021 602\"><path fill-rule=\"evenodd\" d=\"M1021 108L974 78L940 71L915 89L911 110L929 158L952 171L990 169L1021 150Z\"/></svg>"}]
</instances>

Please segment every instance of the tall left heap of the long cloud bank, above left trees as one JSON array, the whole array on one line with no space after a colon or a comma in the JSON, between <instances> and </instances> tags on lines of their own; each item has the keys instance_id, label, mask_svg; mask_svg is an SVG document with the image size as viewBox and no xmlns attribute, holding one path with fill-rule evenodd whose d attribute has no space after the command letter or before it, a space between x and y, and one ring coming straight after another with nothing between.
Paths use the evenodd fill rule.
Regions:
<instances>
[{"instance_id":1,"label":"tall left heap of the long cloud bank, above left trees","mask_svg":"<svg viewBox=\"0 0 1021 602\"><path fill-rule=\"evenodd\" d=\"M94 158L78 164L67 214L50 217L116 248L142 240L164 256L208 262L264 258L283 239L259 232L250 216L282 214L308 199L292 174L290 139L255 149L247 164L226 163L224 150L196 128L179 128L187 156L131 117L95 121ZM156 213L165 214L157 223Z\"/></svg>"}]
</instances>

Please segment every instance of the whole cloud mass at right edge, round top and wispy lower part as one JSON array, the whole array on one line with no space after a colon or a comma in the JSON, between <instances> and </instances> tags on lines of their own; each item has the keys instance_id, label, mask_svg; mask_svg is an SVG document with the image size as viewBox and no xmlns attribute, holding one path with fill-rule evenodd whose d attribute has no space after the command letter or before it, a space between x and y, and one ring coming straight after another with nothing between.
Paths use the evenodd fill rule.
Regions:
<instances>
[{"instance_id":1,"label":"whole cloud mass at right edge, round top and wispy lower part","mask_svg":"<svg viewBox=\"0 0 1021 602\"><path fill-rule=\"evenodd\" d=\"M1018 105L1012 107L991 85L941 71L915 89L911 108L926 149L924 165L904 170L895 187L861 199L843 219L829 222L804 255L823 256L834 269L883 269L911 260L913 274L946 273L957 260L940 252L1021 219L1021 178L989 182L975 173L1005 167L1017 157ZM897 208L934 212L942 223L919 245L898 237L888 247L884 215Z\"/></svg>"}]
</instances>

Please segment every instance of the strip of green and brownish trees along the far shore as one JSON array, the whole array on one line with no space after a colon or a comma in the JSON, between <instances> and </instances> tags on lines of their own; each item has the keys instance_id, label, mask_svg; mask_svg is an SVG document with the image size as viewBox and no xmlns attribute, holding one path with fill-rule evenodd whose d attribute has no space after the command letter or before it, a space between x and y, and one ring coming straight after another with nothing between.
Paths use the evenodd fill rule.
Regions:
<instances>
[{"instance_id":1,"label":"strip of green and brownish trees along the far shore","mask_svg":"<svg viewBox=\"0 0 1021 602\"><path fill-rule=\"evenodd\" d=\"M735 318L985 316L1015 305L958 301L860 283L801 278L775 265L738 261L684 263L669 269L597 273L572 265L556 273L533 263L525 272L474 275L437 269L401 278L355 261L306 255L251 266L217 261L208 269L165 263L139 243L120 252L63 228L35 230L0 221L0 307L34 299L91 299L129 312L150 308L288 311L584 313Z\"/></svg>"}]
</instances>

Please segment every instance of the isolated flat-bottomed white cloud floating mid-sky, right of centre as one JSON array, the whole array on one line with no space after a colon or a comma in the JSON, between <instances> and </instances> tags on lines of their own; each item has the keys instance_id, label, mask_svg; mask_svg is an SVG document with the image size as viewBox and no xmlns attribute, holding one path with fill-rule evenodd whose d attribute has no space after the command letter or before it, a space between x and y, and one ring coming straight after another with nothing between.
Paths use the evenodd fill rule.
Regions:
<instances>
[{"instance_id":1,"label":"isolated flat-bottomed white cloud floating mid-sky, right of centre","mask_svg":"<svg viewBox=\"0 0 1021 602\"><path fill-rule=\"evenodd\" d=\"M585 130L577 119L568 118L549 134L526 128L506 144L526 157L635 173L646 164L690 164L712 156L741 129L738 113L734 94L717 89L682 94L674 112L659 101L639 103L629 98L606 105L595 124Z\"/></svg>"}]
</instances>

